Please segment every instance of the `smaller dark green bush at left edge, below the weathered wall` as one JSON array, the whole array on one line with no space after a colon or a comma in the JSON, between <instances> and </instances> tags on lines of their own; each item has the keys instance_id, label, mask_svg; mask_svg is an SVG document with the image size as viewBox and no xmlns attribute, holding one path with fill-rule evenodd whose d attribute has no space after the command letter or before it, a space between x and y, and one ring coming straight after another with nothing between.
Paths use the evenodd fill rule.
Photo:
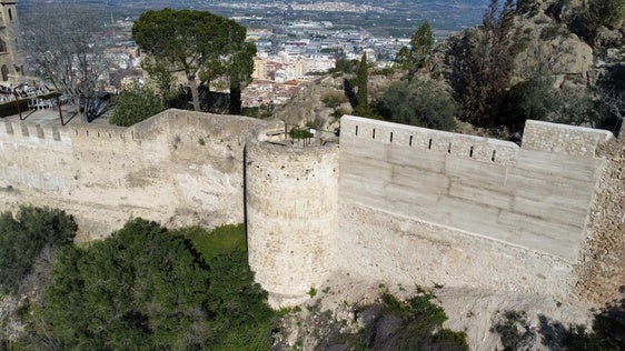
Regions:
<instances>
[{"instance_id":1,"label":"smaller dark green bush at left edge, below the weathered wall","mask_svg":"<svg viewBox=\"0 0 625 351\"><path fill-rule=\"evenodd\" d=\"M72 242L78 227L60 210L22 207L0 214L0 292L16 293L44 248Z\"/></svg>"}]
</instances>

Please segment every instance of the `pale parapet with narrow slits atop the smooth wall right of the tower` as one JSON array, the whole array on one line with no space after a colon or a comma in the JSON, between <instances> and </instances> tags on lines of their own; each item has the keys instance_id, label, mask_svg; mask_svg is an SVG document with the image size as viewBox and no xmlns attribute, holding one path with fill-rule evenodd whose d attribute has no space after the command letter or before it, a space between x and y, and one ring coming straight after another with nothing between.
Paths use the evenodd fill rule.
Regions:
<instances>
[{"instance_id":1,"label":"pale parapet with narrow slits atop the smooth wall right of the tower","mask_svg":"<svg viewBox=\"0 0 625 351\"><path fill-rule=\"evenodd\" d=\"M415 126L397 124L355 116L341 118L341 141L368 140L415 152L447 153L475 161L514 164L519 147L514 142L492 138L458 134Z\"/></svg>"}]
</instances>

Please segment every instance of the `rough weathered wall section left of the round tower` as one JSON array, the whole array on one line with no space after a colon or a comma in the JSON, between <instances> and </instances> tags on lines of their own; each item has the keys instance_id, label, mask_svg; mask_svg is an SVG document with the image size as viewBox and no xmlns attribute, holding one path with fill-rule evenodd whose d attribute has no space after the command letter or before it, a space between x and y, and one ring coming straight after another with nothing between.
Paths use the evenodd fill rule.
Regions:
<instances>
[{"instance_id":1,"label":"rough weathered wall section left of the round tower","mask_svg":"<svg viewBox=\"0 0 625 351\"><path fill-rule=\"evenodd\" d=\"M82 240L143 217L179 227L244 221L242 150L256 119L168 110L130 128L0 123L0 210L67 210Z\"/></svg>"}]
</instances>

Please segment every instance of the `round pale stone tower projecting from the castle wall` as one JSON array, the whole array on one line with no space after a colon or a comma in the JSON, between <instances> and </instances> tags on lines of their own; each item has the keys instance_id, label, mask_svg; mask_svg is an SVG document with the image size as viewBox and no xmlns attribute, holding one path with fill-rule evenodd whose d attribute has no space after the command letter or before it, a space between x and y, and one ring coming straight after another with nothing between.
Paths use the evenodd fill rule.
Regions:
<instances>
[{"instance_id":1,"label":"round pale stone tower projecting from the castle wall","mask_svg":"<svg viewBox=\"0 0 625 351\"><path fill-rule=\"evenodd\" d=\"M334 268L338 146L250 139L245 161L249 265L270 304L297 303Z\"/></svg>"}]
</instances>

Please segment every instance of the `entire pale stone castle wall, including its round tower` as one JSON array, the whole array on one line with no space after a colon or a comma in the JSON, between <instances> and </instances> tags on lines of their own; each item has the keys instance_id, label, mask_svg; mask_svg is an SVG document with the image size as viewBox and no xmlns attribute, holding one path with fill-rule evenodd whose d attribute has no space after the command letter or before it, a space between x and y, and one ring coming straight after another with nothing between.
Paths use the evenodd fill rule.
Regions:
<instances>
[{"instance_id":1,"label":"entire pale stone castle wall, including its round tower","mask_svg":"<svg viewBox=\"0 0 625 351\"><path fill-rule=\"evenodd\" d=\"M132 217L247 220L276 305L334 270L594 301L625 272L624 148L608 132L528 121L519 148L344 117L339 146L297 148L268 142L280 131L179 110L130 128L0 122L0 210L63 209L82 240Z\"/></svg>"}]
</instances>

